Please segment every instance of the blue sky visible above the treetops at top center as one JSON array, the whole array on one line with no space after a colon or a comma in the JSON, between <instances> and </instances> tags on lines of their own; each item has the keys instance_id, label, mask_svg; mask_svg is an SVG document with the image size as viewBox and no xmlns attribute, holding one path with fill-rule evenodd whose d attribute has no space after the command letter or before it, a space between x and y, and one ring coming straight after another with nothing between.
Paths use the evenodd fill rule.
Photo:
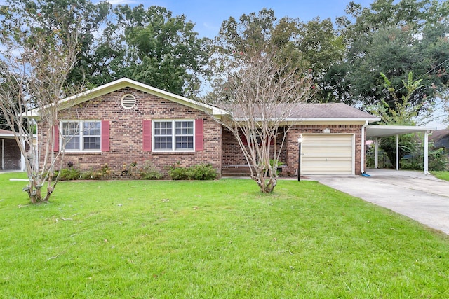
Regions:
<instances>
[{"instance_id":1,"label":"blue sky visible above the treetops at top center","mask_svg":"<svg viewBox=\"0 0 449 299\"><path fill-rule=\"evenodd\" d=\"M144 6L163 6L174 15L185 15L194 22L199 36L213 38L224 20L239 18L243 13L258 13L262 8L272 8L277 18L288 16L307 22L313 18L321 19L344 15L344 8L351 0L109 0L111 4L144 4ZM354 0L368 7L374 0Z\"/></svg>"}]
</instances>

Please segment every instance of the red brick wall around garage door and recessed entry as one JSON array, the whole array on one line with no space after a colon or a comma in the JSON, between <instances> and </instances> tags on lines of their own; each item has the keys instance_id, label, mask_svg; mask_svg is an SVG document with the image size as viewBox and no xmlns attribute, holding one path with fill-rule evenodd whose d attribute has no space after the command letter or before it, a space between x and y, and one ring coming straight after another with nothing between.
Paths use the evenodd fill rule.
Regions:
<instances>
[{"instance_id":1,"label":"red brick wall around garage door and recessed entry","mask_svg":"<svg viewBox=\"0 0 449 299\"><path fill-rule=\"evenodd\" d=\"M328 128L330 133L348 133L355 136L355 173L361 173L361 127L362 125L294 125L290 128L286 136L284 148L281 153L281 162L285 165L282 169L284 176L295 175L298 159L297 139L300 134L323 134L323 130ZM281 139L281 138L280 138ZM278 144L278 148L280 144ZM223 165L246 165L246 160L239 146L236 144L234 136L227 130L223 130Z\"/></svg>"}]
</instances>

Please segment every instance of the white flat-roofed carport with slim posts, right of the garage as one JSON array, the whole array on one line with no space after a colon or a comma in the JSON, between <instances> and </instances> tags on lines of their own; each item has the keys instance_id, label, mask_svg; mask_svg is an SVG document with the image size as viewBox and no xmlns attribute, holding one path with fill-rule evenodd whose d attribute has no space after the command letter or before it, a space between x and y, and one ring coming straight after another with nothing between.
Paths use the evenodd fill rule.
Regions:
<instances>
[{"instance_id":1,"label":"white flat-roofed carport with slim posts, right of the garage","mask_svg":"<svg viewBox=\"0 0 449 299\"><path fill-rule=\"evenodd\" d=\"M424 132L424 174L429 174L429 134L431 134L436 127L421 127L409 125L367 125L366 138L373 138L375 140L375 168L378 164L378 151L380 137L396 136L396 170L399 170L399 136L410 133Z\"/></svg>"}]
</instances>

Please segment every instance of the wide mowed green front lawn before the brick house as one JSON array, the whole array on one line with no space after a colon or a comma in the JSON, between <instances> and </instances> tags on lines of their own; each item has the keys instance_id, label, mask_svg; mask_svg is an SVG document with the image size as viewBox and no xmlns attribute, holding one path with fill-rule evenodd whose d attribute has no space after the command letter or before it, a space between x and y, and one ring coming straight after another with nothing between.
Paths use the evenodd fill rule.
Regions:
<instances>
[{"instance_id":1,"label":"wide mowed green front lawn before the brick house","mask_svg":"<svg viewBox=\"0 0 449 299\"><path fill-rule=\"evenodd\" d=\"M0 175L1 298L448 298L449 239L313 181Z\"/></svg>"}]
</instances>

